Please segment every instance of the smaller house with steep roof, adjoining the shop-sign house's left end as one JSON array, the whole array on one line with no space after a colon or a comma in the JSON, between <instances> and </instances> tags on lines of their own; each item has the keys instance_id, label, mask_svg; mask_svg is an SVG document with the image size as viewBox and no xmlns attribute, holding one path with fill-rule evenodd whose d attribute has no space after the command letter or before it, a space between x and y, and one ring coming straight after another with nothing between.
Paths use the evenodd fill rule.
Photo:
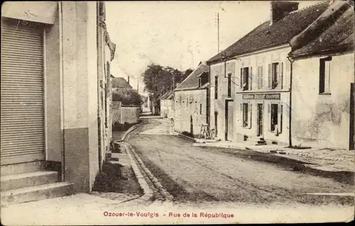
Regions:
<instances>
[{"instance_id":1,"label":"smaller house with steep roof, adjoining the shop-sign house's left end","mask_svg":"<svg viewBox=\"0 0 355 226\"><path fill-rule=\"evenodd\" d=\"M201 63L175 89L174 130L199 135L209 119L209 67Z\"/></svg>"}]
</instances>

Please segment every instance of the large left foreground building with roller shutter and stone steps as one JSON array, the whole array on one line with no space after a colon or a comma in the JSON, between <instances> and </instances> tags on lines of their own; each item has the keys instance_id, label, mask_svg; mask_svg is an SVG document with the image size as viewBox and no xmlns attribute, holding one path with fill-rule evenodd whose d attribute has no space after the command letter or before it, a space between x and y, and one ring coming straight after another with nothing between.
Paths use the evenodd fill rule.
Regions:
<instances>
[{"instance_id":1,"label":"large left foreground building with roller shutter and stone steps","mask_svg":"<svg viewBox=\"0 0 355 226\"><path fill-rule=\"evenodd\" d=\"M104 2L3 4L1 204L91 191L111 136L115 45L104 9Z\"/></svg>"}]
</instances>

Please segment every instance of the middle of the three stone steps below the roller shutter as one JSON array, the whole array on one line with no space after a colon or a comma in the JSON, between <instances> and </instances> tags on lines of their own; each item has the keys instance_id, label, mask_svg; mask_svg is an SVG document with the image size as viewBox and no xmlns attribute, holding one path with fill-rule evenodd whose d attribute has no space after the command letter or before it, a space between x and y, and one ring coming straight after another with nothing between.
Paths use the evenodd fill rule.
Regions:
<instances>
[{"instance_id":1,"label":"middle of the three stone steps below the roller shutter","mask_svg":"<svg viewBox=\"0 0 355 226\"><path fill-rule=\"evenodd\" d=\"M37 186L58 181L57 171L35 171L24 174L1 176L1 191Z\"/></svg>"}]
</instances>

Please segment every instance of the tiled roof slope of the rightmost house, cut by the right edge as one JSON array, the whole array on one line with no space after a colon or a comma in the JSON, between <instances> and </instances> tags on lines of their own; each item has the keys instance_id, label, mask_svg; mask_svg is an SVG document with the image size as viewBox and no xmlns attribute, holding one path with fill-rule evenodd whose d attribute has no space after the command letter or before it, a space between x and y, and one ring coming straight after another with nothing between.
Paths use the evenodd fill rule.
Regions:
<instances>
[{"instance_id":1,"label":"tiled roof slope of the rightmost house, cut by the right edge","mask_svg":"<svg viewBox=\"0 0 355 226\"><path fill-rule=\"evenodd\" d=\"M350 7L318 38L290 53L293 57L354 50L354 9Z\"/></svg>"}]
</instances>

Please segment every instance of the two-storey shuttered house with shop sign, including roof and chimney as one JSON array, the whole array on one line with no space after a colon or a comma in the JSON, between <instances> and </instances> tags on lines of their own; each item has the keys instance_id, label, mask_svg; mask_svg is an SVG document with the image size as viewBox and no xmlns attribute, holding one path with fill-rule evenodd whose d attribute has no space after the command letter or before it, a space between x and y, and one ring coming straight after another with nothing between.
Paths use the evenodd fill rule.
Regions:
<instances>
[{"instance_id":1,"label":"two-storey shuttered house with shop sign, including roof and chimney","mask_svg":"<svg viewBox=\"0 0 355 226\"><path fill-rule=\"evenodd\" d=\"M298 10L297 2L271 1L269 21L207 61L217 137L289 145L290 40L335 5L323 1Z\"/></svg>"}]
</instances>

